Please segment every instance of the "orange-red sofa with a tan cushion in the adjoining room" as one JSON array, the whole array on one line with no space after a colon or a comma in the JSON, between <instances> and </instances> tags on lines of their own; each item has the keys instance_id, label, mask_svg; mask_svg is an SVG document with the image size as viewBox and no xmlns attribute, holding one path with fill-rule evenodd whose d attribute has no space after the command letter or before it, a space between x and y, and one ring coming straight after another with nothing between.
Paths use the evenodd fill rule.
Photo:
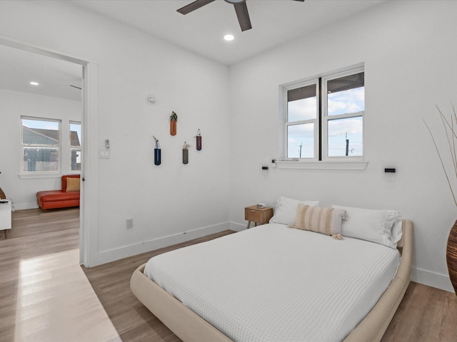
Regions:
<instances>
[{"instance_id":1,"label":"orange-red sofa with a tan cushion in the adjoining room","mask_svg":"<svg viewBox=\"0 0 457 342\"><path fill-rule=\"evenodd\" d=\"M36 192L36 202L41 209L46 210L79 206L79 182L74 182L72 180L67 187L67 178L78 178L79 180L79 175L62 176L61 190ZM67 188L69 191L67 191Z\"/></svg>"}]
</instances>

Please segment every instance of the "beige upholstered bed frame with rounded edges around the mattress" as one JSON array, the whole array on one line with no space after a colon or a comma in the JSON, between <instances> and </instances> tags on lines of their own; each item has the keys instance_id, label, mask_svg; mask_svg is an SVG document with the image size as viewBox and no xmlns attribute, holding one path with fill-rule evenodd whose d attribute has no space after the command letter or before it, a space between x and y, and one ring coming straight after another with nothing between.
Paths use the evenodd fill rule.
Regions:
<instances>
[{"instance_id":1,"label":"beige upholstered bed frame with rounded edges around the mattress","mask_svg":"<svg viewBox=\"0 0 457 342\"><path fill-rule=\"evenodd\" d=\"M344 342L381 341L408 288L413 251L413 222L403 219L403 237L398 242L401 252L400 266L376 306L361 323L343 340ZM143 274L145 264L131 276L133 294L181 340L190 342L231 341L221 331L211 326L194 311L164 291L161 286Z\"/></svg>"}]
</instances>

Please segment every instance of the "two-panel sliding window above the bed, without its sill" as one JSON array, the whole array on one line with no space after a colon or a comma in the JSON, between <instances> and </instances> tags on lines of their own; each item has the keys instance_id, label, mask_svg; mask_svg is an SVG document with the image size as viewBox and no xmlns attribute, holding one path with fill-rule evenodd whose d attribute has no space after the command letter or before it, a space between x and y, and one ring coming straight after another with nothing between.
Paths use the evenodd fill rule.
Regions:
<instances>
[{"instance_id":1,"label":"two-panel sliding window above the bed, without its sill","mask_svg":"<svg viewBox=\"0 0 457 342\"><path fill-rule=\"evenodd\" d=\"M283 87L286 158L363 157L364 75L357 68Z\"/></svg>"}]
</instances>

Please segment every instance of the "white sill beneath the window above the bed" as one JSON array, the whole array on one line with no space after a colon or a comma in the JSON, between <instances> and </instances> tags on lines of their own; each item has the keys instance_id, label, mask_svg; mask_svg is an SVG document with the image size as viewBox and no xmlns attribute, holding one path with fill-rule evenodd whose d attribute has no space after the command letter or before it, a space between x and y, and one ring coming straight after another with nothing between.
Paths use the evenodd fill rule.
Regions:
<instances>
[{"instance_id":1,"label":"white sill beneath the window above the bed","mask_svg":"<svg viewBox=\"0 0 457 342\"><path fill-rule=\"evenodd\" d=\"M365 160L344 161L299 161L299 160L276 160L278 169L301 169L301 170L365 170L368 164Z\"/></svg>"}]
</instances>

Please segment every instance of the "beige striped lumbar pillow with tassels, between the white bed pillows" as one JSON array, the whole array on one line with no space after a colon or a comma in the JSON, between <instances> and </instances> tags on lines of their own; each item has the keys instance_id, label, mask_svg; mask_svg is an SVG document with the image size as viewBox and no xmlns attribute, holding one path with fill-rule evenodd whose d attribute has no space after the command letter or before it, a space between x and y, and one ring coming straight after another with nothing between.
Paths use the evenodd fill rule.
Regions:
<instances>
[{"instance_id":1,"label":"beige striped lumbar pillow with tassels, between the white bed pillows","mask_svg":"<svg viewBox=\"0 0 457 342\"><path fill-rule=\"evenodd\" d=\"M297 216L288 227L336 236L341 234L341 221L346 219L346 210L310 207L298 204Z\"/></svg>"}]
</instances>

